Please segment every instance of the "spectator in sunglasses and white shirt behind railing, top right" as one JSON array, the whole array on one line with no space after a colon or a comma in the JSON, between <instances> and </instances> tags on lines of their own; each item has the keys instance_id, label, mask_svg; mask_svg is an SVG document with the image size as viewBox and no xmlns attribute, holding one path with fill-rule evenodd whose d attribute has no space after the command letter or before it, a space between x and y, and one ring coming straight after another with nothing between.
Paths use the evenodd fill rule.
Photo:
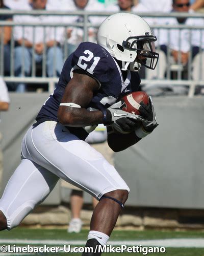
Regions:
<instances>
[{"instance_id":1,"label":"spectator in sunglasses and white shirt behind railing, top right","mask_svg":"<svg viewBox=\"0 0 204 256\"><path fill-rule=\"evenodd\" d=\"M173 0L173 11L188 12L190 8L189 0ZM171 18L172 25L185 24L187 26L204 26L203 18ZM175 63L180 63L186 67L192 50L192 78L194 80L204 79L204 31L172 29L170 32L170 48ZM201 48L201 50L200 50Z\"/></svg>"}]
</instances>

